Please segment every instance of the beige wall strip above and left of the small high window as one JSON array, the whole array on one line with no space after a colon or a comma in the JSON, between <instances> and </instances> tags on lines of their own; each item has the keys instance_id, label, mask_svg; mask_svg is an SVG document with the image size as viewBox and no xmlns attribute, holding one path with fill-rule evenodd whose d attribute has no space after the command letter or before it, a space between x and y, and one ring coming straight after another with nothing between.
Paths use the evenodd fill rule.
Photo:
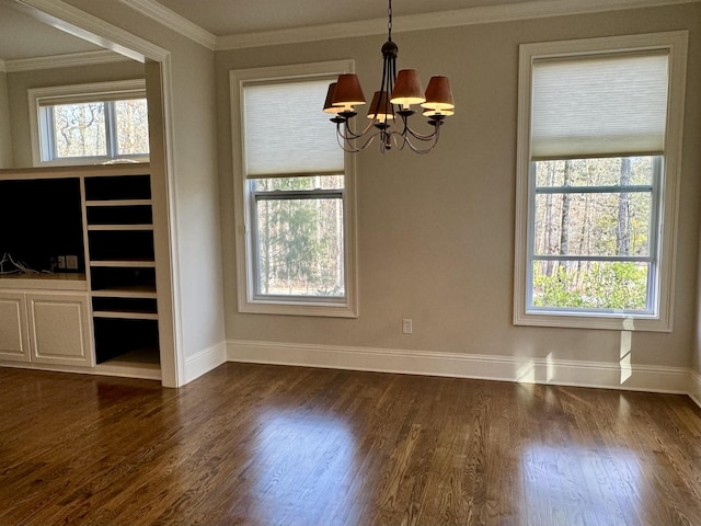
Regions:
<instances>
[{"instance_id":1,"label":"beige wall strip above and left of the small high window","mask_svg":"<svg viewBox=\"0 0 701 526\"><path fill-rule=\"evenodd\" d=\"M134 60L70 68L39 69L8 73L14 167L32 167L32 138L27 90L55 85L108 82L143 78L143 65ZM8 168L8 167L5 167Z\"/></svg>"}]
</instances>

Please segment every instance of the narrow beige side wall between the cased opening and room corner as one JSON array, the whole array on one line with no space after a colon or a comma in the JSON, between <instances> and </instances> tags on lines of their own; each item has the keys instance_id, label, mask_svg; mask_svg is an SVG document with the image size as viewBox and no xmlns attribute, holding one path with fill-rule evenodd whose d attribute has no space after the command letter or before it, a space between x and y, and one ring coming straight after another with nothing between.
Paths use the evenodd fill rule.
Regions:
<instances>
[{"instance_id":1,"label":"narrow beige side wall between the cased opening and room corner","mask_svg":"<svg viewBox=\"0 0 701 526\"><path fill-rule=\"evenodd\" d=\"M219 187L217 174L214 52L137 14L122 2L69 0L171 54L173 100L172 185L168 188L176 247L175 321L183 355L191 358L225 341Z\"/></svg>"}]
</instances>

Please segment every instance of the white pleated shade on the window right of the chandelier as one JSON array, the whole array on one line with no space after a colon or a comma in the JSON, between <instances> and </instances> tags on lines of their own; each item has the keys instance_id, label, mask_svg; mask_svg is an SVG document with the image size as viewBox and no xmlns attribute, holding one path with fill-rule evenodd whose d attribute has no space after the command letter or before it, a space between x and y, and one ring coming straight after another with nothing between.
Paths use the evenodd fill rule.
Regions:
<instances>
[{"instance_id":1,"label":"white pleated shade on the window right of the chandelier","mask_svg":"<svg viewBox=\"0 0 701 526\"><path fill-rule=\"evenodd\" d=\"M667 54L535 60L531 159L662 153L667 89Z\"/></svg>"}]
</instances>

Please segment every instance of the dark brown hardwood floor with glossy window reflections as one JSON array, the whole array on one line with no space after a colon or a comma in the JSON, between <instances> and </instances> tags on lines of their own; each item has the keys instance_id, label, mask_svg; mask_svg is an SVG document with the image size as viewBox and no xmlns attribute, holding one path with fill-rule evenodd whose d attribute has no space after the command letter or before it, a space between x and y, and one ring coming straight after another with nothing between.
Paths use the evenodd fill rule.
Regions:
<instances>
[{"instance_id":1,"label":"dark brown hardwood floor with glossy window reflections","mask_svg":"<svg viewBox=\"0 0 701 526\"><path fill-rule=\"evenodd\" d=\"M681 396L226 364L0 368L0 525L701 525Z\"/></svg>"}]
</instances>

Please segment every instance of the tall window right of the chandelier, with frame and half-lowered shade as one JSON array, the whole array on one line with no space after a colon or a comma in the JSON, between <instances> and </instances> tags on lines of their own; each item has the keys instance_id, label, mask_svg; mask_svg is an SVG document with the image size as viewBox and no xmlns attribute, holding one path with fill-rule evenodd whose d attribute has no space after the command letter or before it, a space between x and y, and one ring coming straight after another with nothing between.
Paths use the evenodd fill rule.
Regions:
<instances>
[{"instance_id":1,"label":"tall window right of the chandelier, with frame and half-lowered shade","mask_svg":"<svg viewBox=\"0 0 701 526\"><path fill-rule=\"evenodd\" d=\"M521 46L516 324L671 330L686 46Z\"/></svg>"}]
</instances>

